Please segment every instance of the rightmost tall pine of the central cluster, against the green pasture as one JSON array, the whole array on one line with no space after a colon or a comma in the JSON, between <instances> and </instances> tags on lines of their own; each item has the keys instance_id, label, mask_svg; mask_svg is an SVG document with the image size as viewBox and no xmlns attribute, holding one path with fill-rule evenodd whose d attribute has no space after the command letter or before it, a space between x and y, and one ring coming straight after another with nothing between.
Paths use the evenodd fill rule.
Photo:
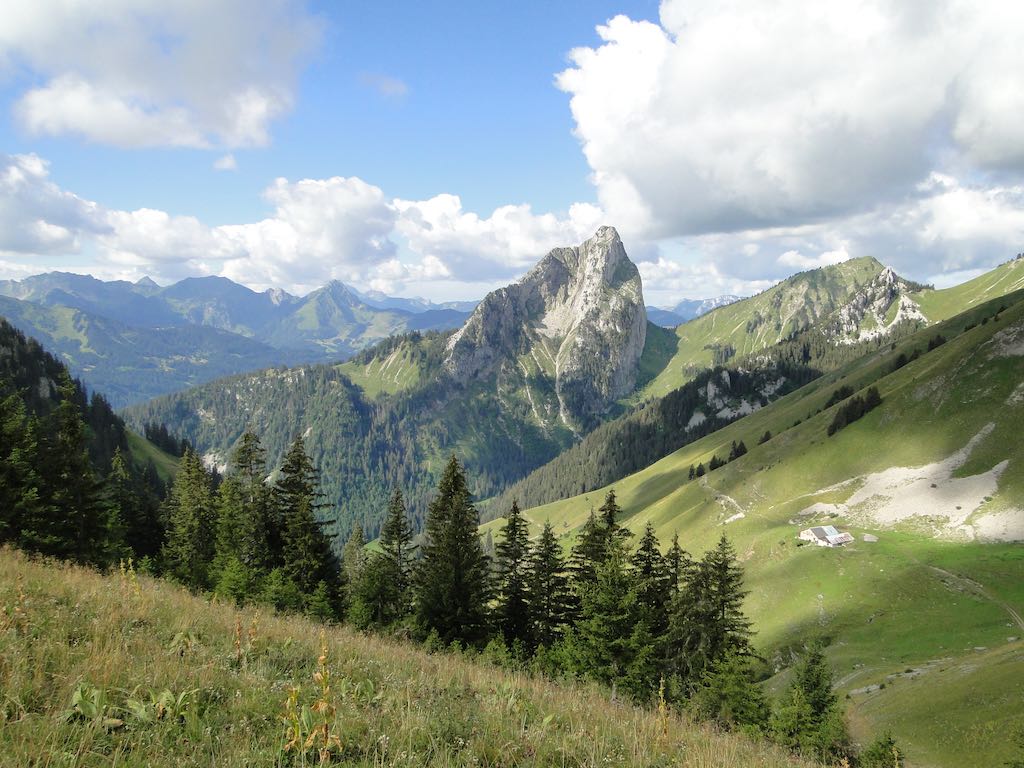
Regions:
<instances>
[{"instance_id":1,"label":"rightmost tall pine of the central cluster, against the green pasture","mask_svg":"<svg viewBox=\"0 0 1024 768\"><path fill-rule=\"evenodd\" d=\"M672 606L670 663L687 686L729 653L750 652L751 623L742 612L743 571L723 536L693 568Z\"/></svg>"}]
</instances>

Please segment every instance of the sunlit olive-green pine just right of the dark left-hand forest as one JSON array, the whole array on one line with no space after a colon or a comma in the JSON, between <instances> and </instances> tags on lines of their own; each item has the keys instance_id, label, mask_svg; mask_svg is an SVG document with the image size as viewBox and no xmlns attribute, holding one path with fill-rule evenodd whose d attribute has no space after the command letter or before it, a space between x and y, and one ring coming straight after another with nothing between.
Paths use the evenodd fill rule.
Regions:
<instances>
[{"instance_id":1,"label":"sunlit olive-green pine just right of the dark left-hand forest","mask_svg":"<svg viewBox=\"0 0 1024 768\"><path fill-rule=\"evenodd\" d=\"M187 587L205 589L210 586L216 513L210 475L191 451L181 458L167 507L167 541L163 552L167 571Z\"/></svg>"}]
</instances>

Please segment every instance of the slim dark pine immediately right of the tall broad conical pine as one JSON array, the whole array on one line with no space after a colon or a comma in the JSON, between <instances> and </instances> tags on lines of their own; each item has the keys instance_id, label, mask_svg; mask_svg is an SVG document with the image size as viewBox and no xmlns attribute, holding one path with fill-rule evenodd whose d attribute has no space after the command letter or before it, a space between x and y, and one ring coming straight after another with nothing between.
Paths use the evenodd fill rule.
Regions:
<instances>
[{"instance_id":1,"label":"slim dark pine immediately right of the tall broad conical pine","mask_svg":"<svg viewBox=\"0 0 1024 768\"><path fill-rule=\"evenodd\" d=\"M506 517L503 538L495 549L498 572L498 606L495 618L508 647L512 647L516 641L524 647L529 647L532 642L526 591L529 558L527 528L528 524L519 511L519 504L513 501Z\"/></svg>"}]
</instances>

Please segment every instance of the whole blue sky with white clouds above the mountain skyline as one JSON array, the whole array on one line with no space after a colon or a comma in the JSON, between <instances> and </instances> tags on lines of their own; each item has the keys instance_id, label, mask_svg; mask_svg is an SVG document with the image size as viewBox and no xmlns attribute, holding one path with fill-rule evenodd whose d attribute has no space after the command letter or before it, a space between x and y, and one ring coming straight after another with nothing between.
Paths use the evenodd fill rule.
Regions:
<instances>
[{"instance_id":1,"label":"whole blue sky with white clouds above the mountain skyline","mask_svg":"<svg viewBox=\"0 0 1024 768\"><path fill-rule=\"evenodd\" d=\"M1024 251L1024 7L0 0L0 279L479 298L615 226L648 303Z\"/></svg>"}]
</instances>

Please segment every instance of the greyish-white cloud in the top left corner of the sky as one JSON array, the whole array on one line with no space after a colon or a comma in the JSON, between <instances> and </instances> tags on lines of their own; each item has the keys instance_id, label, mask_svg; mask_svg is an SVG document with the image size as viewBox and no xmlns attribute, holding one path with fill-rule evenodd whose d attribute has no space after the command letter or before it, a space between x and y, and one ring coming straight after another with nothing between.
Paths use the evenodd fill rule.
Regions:
<instances>
[{"instance_id":1,"label":"greyish-white cloud in the top left corner of the sky","mask_svg":"<svg viewBox=\"0 0 1024 768\"><path fill-rule=\"evenodd\" d=\"M293 0L37 0L5 14L0 66L30 75L14 113L33 134L258 146L318 37Z\"/></svg>"}]
</instances>

